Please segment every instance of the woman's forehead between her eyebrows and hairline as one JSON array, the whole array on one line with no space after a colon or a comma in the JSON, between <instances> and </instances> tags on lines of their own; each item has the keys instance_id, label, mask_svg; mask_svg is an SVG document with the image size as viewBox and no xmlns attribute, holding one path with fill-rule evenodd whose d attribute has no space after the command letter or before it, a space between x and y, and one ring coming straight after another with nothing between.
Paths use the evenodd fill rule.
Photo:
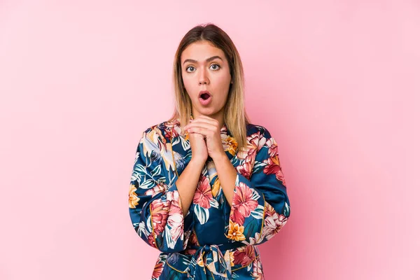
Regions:
<instances>
[{"instance_id":1,"label":"woman's forehead between her eyebrows and hairline","mask_svg":"<svg viewBox=\"0 0 420 280\"><path fill-rule=\"evenodd\" d=\"M226 60L223 50L216 48L209 41L197 41L188 45L181 53L181 63L184 59L195 59L198 62L204 62L207 58L218 55Z\"/></svg>"}]
</instances>

